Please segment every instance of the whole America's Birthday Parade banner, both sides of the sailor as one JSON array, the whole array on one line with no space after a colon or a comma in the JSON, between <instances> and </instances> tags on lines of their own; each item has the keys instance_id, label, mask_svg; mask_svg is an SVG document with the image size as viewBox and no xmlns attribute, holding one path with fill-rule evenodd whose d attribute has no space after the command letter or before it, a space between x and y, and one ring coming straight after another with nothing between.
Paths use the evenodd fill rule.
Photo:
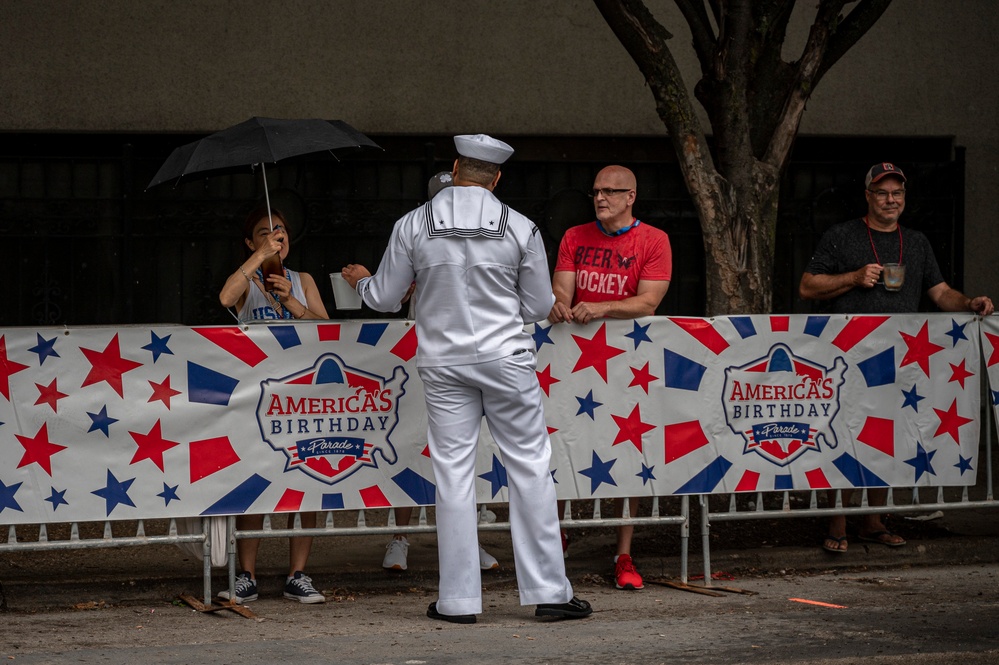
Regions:
<instances>
[{"instance_id":1,"label":"whole America's Birthday Parade banner, both sides of the sailor","mask_svg":"<svg viewBox=\"0 0 999 665\"><path fill-rule=\"evenodd\" d=\"M970 315L527 330L560 498L974 484ZM0 524L432 504L416 346L395 320L0 330ZM507 500L488 430L477 483Z\"/></svg>"}]
</instances>

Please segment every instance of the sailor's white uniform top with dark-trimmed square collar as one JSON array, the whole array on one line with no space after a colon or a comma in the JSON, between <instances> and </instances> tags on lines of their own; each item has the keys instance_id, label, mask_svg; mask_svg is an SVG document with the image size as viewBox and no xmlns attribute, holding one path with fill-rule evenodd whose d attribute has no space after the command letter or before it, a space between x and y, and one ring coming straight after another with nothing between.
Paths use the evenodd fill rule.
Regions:
<instances>
[{"instance_id":1,"label":"sailor's white uniform top with dark-trimmed square collar","mask_svg":"<svg viewBox=\"0 0 999 665\"><path fill-rule=\"evenodd\" d=\"M538 227L483 187L448 187L396 222L378 271L357 291L372 309L397 311L414 279L419 367L531 349L524 324L555 304Z\"/></svg>"}]
</instances>

